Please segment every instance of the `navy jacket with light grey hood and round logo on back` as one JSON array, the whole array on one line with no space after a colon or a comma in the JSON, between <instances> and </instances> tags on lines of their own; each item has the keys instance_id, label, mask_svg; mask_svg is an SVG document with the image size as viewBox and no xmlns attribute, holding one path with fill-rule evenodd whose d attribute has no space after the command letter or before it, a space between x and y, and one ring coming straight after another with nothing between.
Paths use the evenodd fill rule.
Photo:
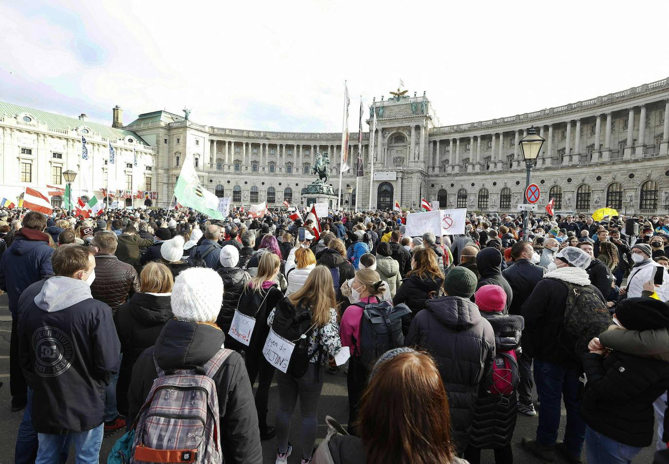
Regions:
<instances>
[{"instance_id":1,"label":"navy jacket with light grey hood and round logo on back","mask_svg":"<svg viewBox=\"0 0 669 464\"><path fill-rule=\"evenodd\" d=\"M33 390L37 433L76 433L102 424L104 389L118 372L120 343L108 305L84 281L57 276L19 300L19 362Z\"/></svg>"}]
</instances>

